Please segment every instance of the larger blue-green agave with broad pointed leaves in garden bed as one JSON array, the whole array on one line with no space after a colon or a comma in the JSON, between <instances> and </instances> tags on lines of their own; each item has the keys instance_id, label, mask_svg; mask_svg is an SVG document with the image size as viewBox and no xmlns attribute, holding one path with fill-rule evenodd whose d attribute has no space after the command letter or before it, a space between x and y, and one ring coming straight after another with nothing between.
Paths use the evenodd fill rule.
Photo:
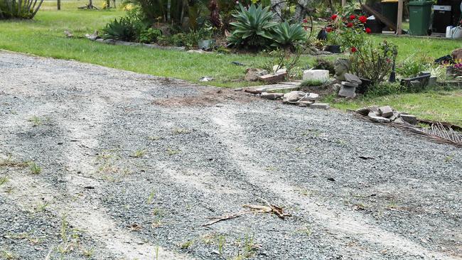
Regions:
<instances>
[{"instance_id":1,"label":"larger blue-green agave with broad pointed leaves in garden bed","mask_svg":"<svg viewBox=\"0 0 462 260\"><path fill-rule=\"evenodd\" d=\"M262 8L261 5L251 4L246 9L240 4L240 11L232 16L237 21L230 23L235 28L228 38L230 45L246 45L257 49L268 45L272 38L272 28L277 24L272 21L274 13L269 10L269 6Z\"/></svg>"}]
</instances>

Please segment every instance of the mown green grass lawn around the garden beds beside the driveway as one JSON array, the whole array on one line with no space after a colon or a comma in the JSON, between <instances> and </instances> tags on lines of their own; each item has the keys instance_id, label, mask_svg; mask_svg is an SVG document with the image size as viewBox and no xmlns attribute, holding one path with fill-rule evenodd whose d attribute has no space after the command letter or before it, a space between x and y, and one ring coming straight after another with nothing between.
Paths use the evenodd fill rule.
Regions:
<instances>
[{"instance_id":1,"label":"mown green grass lawn around the garden beds beside the driveway","mask_svg":"<svg viewBox=\"0 0 462 260\"><path fill-rule=\"evenodd\" d=\"M244 63L248 67L259 66L269 58L263 55L197 54L176 50L156 50L142 47L105 45L85 38L65 38L63 31L70 30L75 36L83 36L100 30L114 18L124 15L124 11L79 10L87 1L63 1L62 10L56 10L55 1L45 1L43 9L33 21L0 21L0 49L21 53L31 53L53 58L79 60L106 67L146 73L162 77L176 77L198 83L202 76L214 77L208 82L218 87L242 87L258 82L235 81L243 78L245 68L233 65L232 61ZM94 1L95 6L101 2ZM409 55L426 55L439 58L461 47L461 40L431 38L410 38L395 36L368 36L376 41L389 40L399 48L398 60ZM335 58L335 56L330 56ZM313 57L301 58L301 66L312 63ZM405 94L342 102L334 107L355 108L362 104L390 104L402 111L413 112L428 119L456 122L461 118L458 103L461 92L437 92L433 94ZM429 96L430 95L430 96ZM435 99L434 97L438 97Z\"/></svg>"}]
</instances>

